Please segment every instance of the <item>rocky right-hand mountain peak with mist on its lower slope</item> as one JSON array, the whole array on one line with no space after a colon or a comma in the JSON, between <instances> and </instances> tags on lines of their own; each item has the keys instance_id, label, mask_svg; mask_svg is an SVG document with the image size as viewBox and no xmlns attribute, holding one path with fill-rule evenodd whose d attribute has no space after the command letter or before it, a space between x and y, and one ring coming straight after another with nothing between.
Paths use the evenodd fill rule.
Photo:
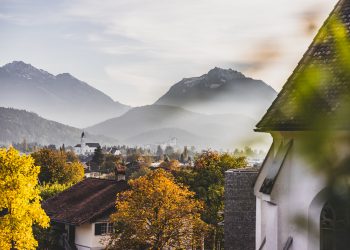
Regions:
<instances>
[{"instance_id":1,"label":"rocky right-hand mountain peak with mist on its lower slope","mask_svg":"<svg viewBox=\"0 0 350 250\"><path fill-rule=\"evenodd\" d=\"M207 74L184 78L174 84L155 104L203 114L243 114L258 120L276 95L263 81L216 67Z\"/></svg>"}]
</instances>

